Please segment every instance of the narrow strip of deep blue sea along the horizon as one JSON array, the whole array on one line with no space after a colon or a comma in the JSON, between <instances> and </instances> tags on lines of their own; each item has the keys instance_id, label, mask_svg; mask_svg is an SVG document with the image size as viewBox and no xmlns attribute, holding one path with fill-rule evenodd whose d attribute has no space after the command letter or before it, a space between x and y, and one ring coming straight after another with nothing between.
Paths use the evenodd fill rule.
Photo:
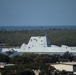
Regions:
<instances>
[{"instance_id":1,"label":"narrow strip of deep blue sea along the horizon","mask_svg":"<svg viewBox=\"0 0 76 75\"><path fill-rule=\"evenodd\" d=\"M0 26L0 30L76 29L76 26Z\"/></svg>"}]
</instances>

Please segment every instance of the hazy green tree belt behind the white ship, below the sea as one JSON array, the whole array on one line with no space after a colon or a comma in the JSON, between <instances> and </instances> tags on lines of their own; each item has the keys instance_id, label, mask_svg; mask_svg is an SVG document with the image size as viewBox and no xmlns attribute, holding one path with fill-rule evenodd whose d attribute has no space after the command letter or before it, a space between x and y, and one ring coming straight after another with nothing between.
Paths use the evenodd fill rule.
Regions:
<instances>
[{"instance_id":1,"label":"hazy green tree belt behind the white ship, below the sea","mask_svg":"<svg viewBox=\"0 0 76 75\"><path fill-rule=\"evenodd\" d=\"M0 30L0 45L20 46L31 36L48 36L51 44L76 46L76 30Z\"/></svg>"}]
</instances>

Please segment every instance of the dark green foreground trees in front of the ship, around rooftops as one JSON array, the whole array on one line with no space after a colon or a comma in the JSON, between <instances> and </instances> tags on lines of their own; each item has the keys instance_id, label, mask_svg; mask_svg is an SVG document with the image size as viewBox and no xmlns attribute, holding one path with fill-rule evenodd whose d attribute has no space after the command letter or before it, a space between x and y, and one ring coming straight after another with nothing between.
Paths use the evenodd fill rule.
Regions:
<instances>
[{"instance_id":1,"label":"dark green foreground trees in front of the ship, around rooftops","mask_svg":"<svg viewBox=\"0 0 76 75\"><path fill-rule=\"evenodd\" d=\"M51 64L56 62L76 61L76 56L69 52L63 55L24 53L21 56L8 57L0 53L0 61L15 64L0 68L2 75L35 75L33 70L40 70L39 75L68 75L66 71L56 70ZM50 64L49 64L50 63Z\"/></svg>"}]
</instances>

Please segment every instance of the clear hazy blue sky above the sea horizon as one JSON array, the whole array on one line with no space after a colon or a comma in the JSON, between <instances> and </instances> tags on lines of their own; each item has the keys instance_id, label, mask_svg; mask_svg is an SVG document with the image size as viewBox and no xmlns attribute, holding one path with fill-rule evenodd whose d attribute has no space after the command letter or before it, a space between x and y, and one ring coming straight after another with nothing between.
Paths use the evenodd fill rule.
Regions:
<instances>
[{"instance_id":1,"label":"clear hazy blue sky above the sea horizon","mask_svg":"<svg viewBox=\"0 0 76 75\"><path fill-rule=\"evenodd\" d=\"M0 0L0 26L76 26L76 0Z\"/></svg>"}]
</instances>

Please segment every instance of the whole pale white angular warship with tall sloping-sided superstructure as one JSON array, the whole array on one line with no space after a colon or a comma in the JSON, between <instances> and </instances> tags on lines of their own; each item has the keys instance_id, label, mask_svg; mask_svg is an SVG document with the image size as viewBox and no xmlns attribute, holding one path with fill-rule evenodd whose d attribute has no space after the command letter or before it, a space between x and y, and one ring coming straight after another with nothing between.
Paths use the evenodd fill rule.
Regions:
<instances>
[{"instance_id":1,"label":"whole pale white angular warship with tall sloping-sided superstructure","mask_svg":"<svg viewBox=\"0 0 76 75\"><path fill-rule=\"evenodd\" d=\"M3 48L2 52L17 51L17 52L76 52L76 47L66 45L56 46L51 45L46 36L32 36L28 44L23 43L20 48Z\"/></svg>"}]
</instances>

